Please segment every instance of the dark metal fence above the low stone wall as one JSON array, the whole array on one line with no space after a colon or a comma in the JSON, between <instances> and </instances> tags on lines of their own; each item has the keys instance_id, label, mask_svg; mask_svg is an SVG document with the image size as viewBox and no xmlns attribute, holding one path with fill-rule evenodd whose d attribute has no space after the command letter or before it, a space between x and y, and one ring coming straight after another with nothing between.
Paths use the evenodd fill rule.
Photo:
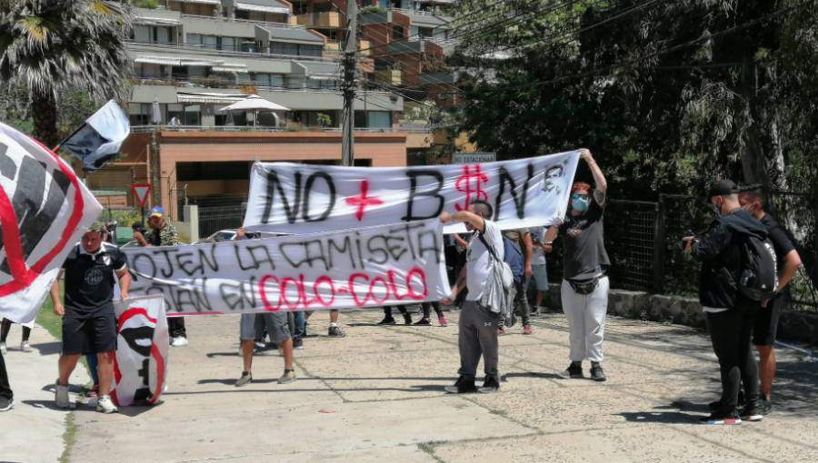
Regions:
<instances>
[{"instance_id":1,"label":"dark metal fence above the low stone wall","mask_svg":"<svg viewBox=\"0 0 818 463\"><path fill-rule=\"evenodd\" d=\"M792 234L803 261L793 281L793 310L818 311L818 200L807 194L774 192L765 208ZM702 233L715 219L707 198L660 195L657 202L609 200L605 208L605 248L615 289L696 296L701 264L674 244L687 231ZM552 281L562 275L562 246L548 256Z\"/></svg>"}]
</instances>

